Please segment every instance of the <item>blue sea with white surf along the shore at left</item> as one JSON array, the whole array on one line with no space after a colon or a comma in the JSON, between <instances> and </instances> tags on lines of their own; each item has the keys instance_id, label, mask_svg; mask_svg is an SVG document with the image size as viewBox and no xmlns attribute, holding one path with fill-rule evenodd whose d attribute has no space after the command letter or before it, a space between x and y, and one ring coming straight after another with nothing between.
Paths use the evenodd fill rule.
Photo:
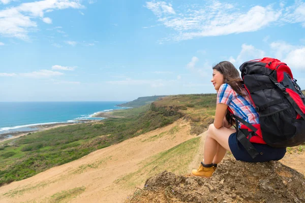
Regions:
<instances>
[{"instance_id":1,"label":"blue sea with white surf along the shore at left","mask_svg":"<svg viewBox=\"0 0 305 203\"><path fill-rule=\"evenodd\" d=\"M0 102L0 134L32 131L36 125L96 120L98 112L115 109L126 101L73 101L73 102Z\"/></svg>"}]
</instances>

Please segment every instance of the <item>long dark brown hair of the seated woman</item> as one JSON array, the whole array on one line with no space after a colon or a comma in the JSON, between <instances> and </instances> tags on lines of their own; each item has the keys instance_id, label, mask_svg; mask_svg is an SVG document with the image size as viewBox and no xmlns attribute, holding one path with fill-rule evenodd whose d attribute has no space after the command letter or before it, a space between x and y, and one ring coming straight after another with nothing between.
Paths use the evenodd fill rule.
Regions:
<instances>
[{"instance_id":1,"label":"long dark brown hair of the seated woman","mask_svg":"<svg viewBox=\"0 0 305 203\"><path fill-rule=\"evenodd\" d=\"M221 61L220 63L214 65L212 69L220 72L224 76L224 83L229 84L237 94L246 96L246 94L242 91L243 82L240 78L239 72L231 62ZM234 123L234 120L232 119L228 110L226 113L226 119L230 125Z\"/></svg>"}]
</instances>

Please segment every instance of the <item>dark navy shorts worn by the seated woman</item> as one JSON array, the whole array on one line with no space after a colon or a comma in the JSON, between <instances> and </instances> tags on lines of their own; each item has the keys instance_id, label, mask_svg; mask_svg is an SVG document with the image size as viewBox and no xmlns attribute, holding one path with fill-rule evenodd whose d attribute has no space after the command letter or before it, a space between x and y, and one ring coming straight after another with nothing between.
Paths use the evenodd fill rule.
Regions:
<instances>
[{"instance_id":1,"label":"dark navy shorts worn by the seated woman","mask_svg":"<svg viewBox=\"0 0 305 203\"><path fill-rule=\"evenodd\" d=\"M229 147L236 160L246 162L265 162L278 161L282 159L286 153L286 147L273 148L264 144L252 143L259 153L254 159L246 151L246 149L236 140L236 132L229 137ZM239 149L238 149L239 147Z\"/></svg>"}]
</instances>

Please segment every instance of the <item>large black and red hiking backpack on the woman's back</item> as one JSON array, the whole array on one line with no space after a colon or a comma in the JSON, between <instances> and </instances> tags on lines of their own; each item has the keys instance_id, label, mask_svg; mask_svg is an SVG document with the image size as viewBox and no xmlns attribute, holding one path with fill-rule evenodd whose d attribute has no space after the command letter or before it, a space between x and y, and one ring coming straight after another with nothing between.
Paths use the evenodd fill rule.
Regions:
<instances>
[{"instance_id":1,"label":"large black and red hiking backpack on the woman's back","mask_svg":"<svg viewBox=\"0 0 305 203\"><path fill-rule=\"evenodd\" d=\"M271 147L292 147L305 142L305 96L286 63L275 58L240 65L241 78L259 114L260 124L241 122L237 139L254 158L258 152L250 139L259 136Z\"/></svg>"}]
</instances>

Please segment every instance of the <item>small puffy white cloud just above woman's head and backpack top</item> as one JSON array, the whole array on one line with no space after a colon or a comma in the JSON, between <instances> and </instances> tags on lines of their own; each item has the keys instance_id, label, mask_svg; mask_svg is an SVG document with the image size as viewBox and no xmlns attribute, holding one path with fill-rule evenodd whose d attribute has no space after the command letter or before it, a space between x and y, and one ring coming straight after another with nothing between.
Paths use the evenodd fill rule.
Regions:
<instances>
[{"instance_id":1,"label":"small puffy white cloud just above woman's head and backpack top","mask_svg":"<svg viewBox=\"0 0 305 203\"><path fill-rule=\"evenodd\" d=\"M265 52L260 49L256 49L252 45L242 44L241 45L241 51L239 55L235 58L232 56L229 58L229 61L236 66L241 65L243 62L253 60L253 59L259 59L263 58L265 56Z\"/></svg>"}]
</instances>

